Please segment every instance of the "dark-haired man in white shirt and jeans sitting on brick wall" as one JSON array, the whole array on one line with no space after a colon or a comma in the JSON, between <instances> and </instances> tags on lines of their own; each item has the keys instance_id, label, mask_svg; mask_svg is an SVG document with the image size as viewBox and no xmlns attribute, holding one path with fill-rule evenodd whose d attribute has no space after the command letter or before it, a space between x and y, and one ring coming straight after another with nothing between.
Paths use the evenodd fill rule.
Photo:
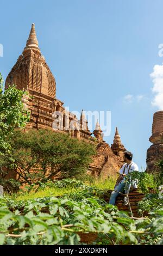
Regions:
<instances>
[{"instance_id":1,"label":"dark-haired man in white shirt and jeans sitting on brick wall","mask_svg":"<svg viewBox=\"0 0 163 256\"><path fill-rule=\"evenodd\" d=\"M134 163L132 161L133 159L133 154L129 151L126 151L124 153L124 163L122 168L120 169L120 177L118 178L117 182L116 182L116 185L115 185L115 188L114 190L117 191L112 191L111 193L111 196L110 196L110 201L109 201L109 204L112 204L112 205L115 205L115 202L116 202L116 198L117 196L120 195L120 193L118 192L121 192L123 193L123 191L125 191L124 193L127 194L129 193L130 191L130 187L131 187L131 184L133 185L134 188L137 187L137 181L131 181L130 183L128 182L124 182L125 180L125 176L128 175L129 173L131 172L139 172L139 168L137 166L136 163ZM123 205L127 205L128 202L127 202L127 197L124 197L124 203Z\"/></svg>"}]
</instances>

